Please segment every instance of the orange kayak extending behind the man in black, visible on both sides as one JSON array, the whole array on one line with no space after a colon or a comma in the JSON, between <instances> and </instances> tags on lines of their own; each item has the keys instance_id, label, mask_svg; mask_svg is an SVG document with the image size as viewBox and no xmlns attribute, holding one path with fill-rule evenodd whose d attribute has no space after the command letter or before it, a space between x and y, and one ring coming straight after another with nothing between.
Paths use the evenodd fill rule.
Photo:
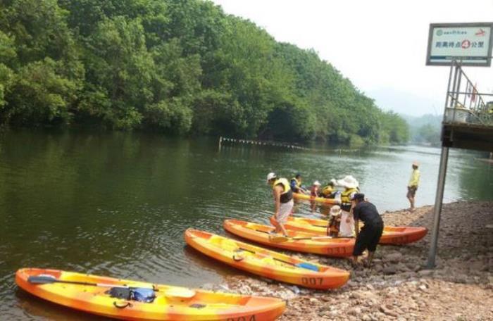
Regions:
<instances>
[{"instance_id":1,"label":"orange kayak extending behind the man in black, visible on both sides","mask_svg":"<svg viewBox=\"0 0 493 321\"><path fill-rule=\"evenodd\" d=\"M317 235L327 235L327 220L312 218L288 218L286 229L308 232ZM386 226L383 229L380 244L401 245L419 241L428 233L426 227L393 227Z\"/></svg>"}]
</instances>

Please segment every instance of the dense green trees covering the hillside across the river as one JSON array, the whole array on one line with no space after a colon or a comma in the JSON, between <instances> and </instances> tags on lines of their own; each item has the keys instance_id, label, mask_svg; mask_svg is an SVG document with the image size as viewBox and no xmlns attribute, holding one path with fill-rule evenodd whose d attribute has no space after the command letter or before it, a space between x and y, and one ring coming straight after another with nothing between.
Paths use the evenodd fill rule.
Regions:
<instances>
[{"instance_id":1,"label":"dense green trees covering the hillside across the river","mask_svg":"<svg viewBox=\"0 0 493 321\"><path fill-rule=\"evenodd\" d=\"M314 51L200 0L0 2L0 120L174 134L401 143Z\"/></svg>"}]
</instances>

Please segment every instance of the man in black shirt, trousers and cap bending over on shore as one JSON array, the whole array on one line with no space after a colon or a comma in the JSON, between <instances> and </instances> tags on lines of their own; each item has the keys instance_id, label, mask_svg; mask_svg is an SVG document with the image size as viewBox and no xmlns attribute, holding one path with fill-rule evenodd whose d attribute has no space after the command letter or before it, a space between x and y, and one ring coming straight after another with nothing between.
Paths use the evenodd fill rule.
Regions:
<instances>
[{"instance_id":1,"label":"man in black shirt, trousers and cap bending over on shore","mask_svg":"<svg viewBox=\"0 0 493 321\"><path fill-rule=\"evenodd\" d=\"M356 193L353 198L353 215L354 215L354 231L356 232L356 244L353 250L353 263L358 263L358 256L363 254L363 251L368 249L368 260L366 267L370 267L373 254L377 249L377 244L380 241L383 233L383 220L378 214L375 206L365 201L365 194ZM364 223L361 232L359 230L359 221Z\"/></svg>"}]
</instances>

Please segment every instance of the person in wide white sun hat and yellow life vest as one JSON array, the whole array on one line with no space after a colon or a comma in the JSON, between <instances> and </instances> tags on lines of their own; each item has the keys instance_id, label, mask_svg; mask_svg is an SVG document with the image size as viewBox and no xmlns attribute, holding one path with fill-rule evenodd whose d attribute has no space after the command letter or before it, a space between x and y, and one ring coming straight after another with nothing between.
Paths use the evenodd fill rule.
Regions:
<instances>
[{"instance_id":1,"label":"person in wide white sun hat and yellow life vest","mask_svg":"<svg viewBox=\"0 0 493 321\"><path fill-rule=\"evenodd\" d=\"M337 185L344 187L341 193L341 227L339 237L353 237L354 235L354 219L351 212L351 198L359 191L359 183L356 178L347 175L342 180L337 181Z\"/></svg>"}]
</instances>

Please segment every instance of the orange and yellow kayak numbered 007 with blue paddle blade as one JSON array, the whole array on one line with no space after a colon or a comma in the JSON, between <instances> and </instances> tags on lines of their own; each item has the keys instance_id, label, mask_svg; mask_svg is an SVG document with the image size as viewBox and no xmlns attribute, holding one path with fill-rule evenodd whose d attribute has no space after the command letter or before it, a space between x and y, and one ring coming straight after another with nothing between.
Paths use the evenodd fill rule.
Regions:
<instances>
[{"instance_id":1,"label":"orange and yellow kayak numbered 007 with blue paddle blade","mask_svg":"<svg viewBox=\"0 0 493 321\"><path fill-rule=\"evenodd\" d=\"M349 272L319 265L265 248L196 229L185 231L185 241L206 256L256 275L312 289L342 287Z\"/></svg>"}]
</instances>

